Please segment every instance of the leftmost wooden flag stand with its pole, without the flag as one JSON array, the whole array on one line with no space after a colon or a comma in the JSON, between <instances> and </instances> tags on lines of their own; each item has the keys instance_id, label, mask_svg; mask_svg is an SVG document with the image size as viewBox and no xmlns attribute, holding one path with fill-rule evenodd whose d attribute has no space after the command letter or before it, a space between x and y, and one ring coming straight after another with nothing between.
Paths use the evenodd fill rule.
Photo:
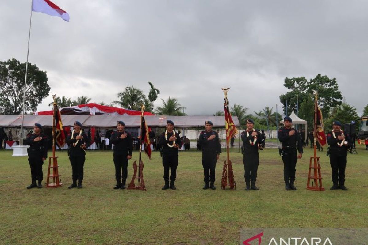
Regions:
<instances>
[{"instance_id":1,"label":"leftmost wooden flag stand with its pole, without the flag","mask_svg":"<svg viewBox=\"0 0 368 245\"><path fill-rule=\"evenodd\" d=\"M56 95L55 95L56 96ZM46 181L46 188L56 188L63 185L60 180L59 174L59 165L57 165L57 156L55 156L55 114L56 114L56 107L57 104L55 102L54 97L54 116L53 116L53 123L52 123L52 156L49 157L49 168L47 171L47 181ZM51 161L52 159L52 161ZM52 162L52 165L51 165ZM52 169L52 174L50 174L50 169ZM52 183L50 183L50 178L52 178Z\"/></svg>"}]
</instances>

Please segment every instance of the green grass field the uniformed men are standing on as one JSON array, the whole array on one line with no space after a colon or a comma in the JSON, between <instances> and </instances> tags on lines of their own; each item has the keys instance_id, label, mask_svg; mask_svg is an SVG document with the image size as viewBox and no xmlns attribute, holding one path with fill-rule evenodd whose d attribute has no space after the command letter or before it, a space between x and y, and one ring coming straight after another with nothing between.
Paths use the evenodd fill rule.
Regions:
<instances>
[{"instance_id":1,"label":"green grass field the uniformed men are standing on","mask_svg":"<svg viewBox=\"0 0 368 245\"><path fill-rule=\"evenodd\" d=\"M71 166L57 152L63 186L26 190L26 157L0 151L1 244L239 244L241 228L348 227L368 224L368 151L358 146L348 155L348 191L330 191L331 168L321 152L324 192L305 189L309 156L297 163L297 191L285 191L283 163L277 149L260 152L257 185L245 191L242 155L231 152L236 190L221 190L226 154L217 163L217 190L202 190L200 152L180 152L177 190L162 191L163 167L158 152L144 155L147 191L113 190L111 151L86 155L84 187L68 190ZM51 154L49 152L49 154ZM138 159L134 152L133 159ZM128 179L132 176L130 161ZM47 163L43 165L46 180Z\"/></svg>"}]
</instances>

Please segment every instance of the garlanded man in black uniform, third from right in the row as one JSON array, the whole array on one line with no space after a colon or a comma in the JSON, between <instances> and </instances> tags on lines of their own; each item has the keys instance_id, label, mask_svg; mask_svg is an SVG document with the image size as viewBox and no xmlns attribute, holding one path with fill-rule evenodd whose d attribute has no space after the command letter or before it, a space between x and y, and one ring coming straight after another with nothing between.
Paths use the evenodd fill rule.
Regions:
<instances>
[{"instance_id":1,"label":"garlanded man in black uniform, third from right in the row","mask_svg":"<svg viewBox=\"0 0 368 245\"><path fill-rule=\"evenodd\" d=\"M255 131L254 121L252 119L246 120L247 129L240 134L241 140L243 141L243 164L244 164L244 179L245 179L245 190L256 190L258 187L255 186L257 180L257 170L259 165L258 149L263 150L262 136L259 131ZM250 185L250 183L252 185Z\"/></svg>"}]
</instances>

